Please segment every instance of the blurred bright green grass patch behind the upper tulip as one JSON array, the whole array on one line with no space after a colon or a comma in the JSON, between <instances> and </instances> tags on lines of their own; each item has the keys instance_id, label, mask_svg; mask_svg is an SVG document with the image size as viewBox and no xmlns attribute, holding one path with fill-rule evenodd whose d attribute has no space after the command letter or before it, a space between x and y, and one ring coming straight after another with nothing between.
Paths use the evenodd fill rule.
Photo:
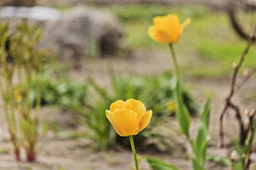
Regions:
<instances>
[{"instance_id":1,"label":"blurred bright green grass patch behind the upper tulip","mask_svg":"<svg viewBox=\"0 0 256 170\"><path fill-rule=\"evenodd\" d=\"M238 62L246 46L246 41L241 40L232 29L224 11L211 11L204 6L170 7L148 4L114 5L108 6L108 9L124 23L125 38L132 48L144 50L166 50L165 46L148 38L147 28L152 25L153 17L177 13L181 22L191 18L191 24L182 34L179 45L175 46L179 57L188 58L184 69L192 76L228 76L232 71L232 62ZM191 53L196 55L197 60L189 58ZM256 56L255 46L250 49L244 67L251 67L256 63L256 57L253 56Z\"/></svg>"}]
</instances>

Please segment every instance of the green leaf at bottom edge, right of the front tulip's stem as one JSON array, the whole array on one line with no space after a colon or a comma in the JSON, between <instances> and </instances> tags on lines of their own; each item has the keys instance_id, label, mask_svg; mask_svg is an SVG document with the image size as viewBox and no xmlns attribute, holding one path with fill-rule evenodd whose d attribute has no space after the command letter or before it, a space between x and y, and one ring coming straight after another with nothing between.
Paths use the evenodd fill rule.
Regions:
<instances>
[{"instance_id":1,"label":"green leaf at bottom edge, right of the front tulip's stem","mask_svg":"<svg viewBox=\"0 0 256 170\"><path fill-rule=\"evenodd\" d=\"M179 170L177 167L167 164L160 159L147 157L146 160L153 170Z\"/></svg>"}]
</instances>

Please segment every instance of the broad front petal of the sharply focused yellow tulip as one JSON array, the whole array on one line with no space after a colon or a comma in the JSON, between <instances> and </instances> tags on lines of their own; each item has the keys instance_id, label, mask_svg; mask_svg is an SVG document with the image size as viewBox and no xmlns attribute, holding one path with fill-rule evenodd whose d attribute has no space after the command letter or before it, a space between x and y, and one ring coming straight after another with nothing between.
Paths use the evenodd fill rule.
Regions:
<instances>
[{"instance_id":1,"label":"broad front petal of the sharply focused yellow tulip","mask_svg":"<svg viewBox=\"0 0 256 170\"><path fill-rule=\"evenodd\" d=\"M133 110L115 110L113 112L118 122L118 127L124 136L131 136L138 130L138 114Z\"/></svg>"}]
</instances>

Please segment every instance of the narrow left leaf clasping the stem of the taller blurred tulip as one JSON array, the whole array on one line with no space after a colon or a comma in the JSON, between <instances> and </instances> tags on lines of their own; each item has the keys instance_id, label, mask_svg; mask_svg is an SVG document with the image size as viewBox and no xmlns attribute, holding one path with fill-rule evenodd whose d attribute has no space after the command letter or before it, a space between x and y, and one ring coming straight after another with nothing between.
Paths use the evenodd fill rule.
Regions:
<instances>
[{"instance_id":1,"label":"narrow left leaf clasping the stem of the taller blurred tulip","mask_svg":"<svg viewBox=\"0 0 256 170\"><path fill-rule=\"evenodd\" d=\"M188 113L188 109L186 108L185 104L183 103L182 87L181 87L179 81L177 81L174 94L175 94L175 99L176 99L176 103L177 103L176 118L179 121L180 131L189 138L189 127L191 124L191 118Z\"/></svg>"}]
</instances>

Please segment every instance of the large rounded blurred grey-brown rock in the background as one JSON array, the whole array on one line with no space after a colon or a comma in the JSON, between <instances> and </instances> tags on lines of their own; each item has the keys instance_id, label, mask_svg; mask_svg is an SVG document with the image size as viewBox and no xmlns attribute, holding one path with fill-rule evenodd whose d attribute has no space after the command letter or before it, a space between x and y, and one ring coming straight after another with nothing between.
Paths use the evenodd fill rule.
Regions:
<instances>
[{"instance_id":1,"label":"large rounded blurred grey-brown rock in the background","mask_svg":"<svg viewBox=\"0 0 256 170\"><path fill-rule=\"evenodd\" d=\"M118 20L104 10L77 6L46 26L46 44L62 59L115 55L122 44Z\"/></svg>"}]
</instances>

